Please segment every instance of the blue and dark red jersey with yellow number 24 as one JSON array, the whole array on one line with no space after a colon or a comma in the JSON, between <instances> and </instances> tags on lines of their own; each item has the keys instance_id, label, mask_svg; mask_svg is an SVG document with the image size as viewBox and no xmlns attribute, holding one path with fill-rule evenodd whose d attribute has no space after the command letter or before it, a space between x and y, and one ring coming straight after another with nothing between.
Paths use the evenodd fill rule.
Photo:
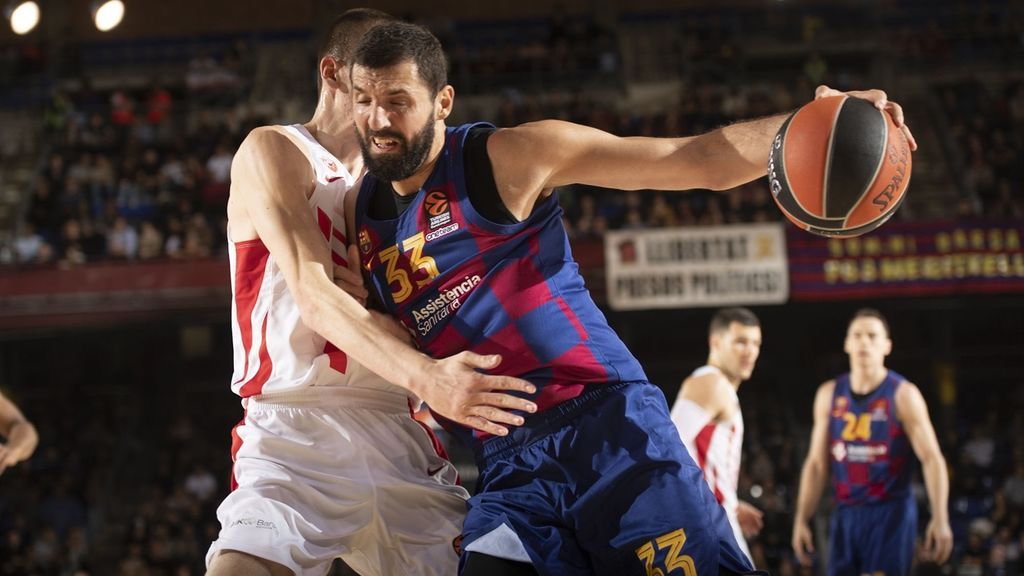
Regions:
<instances>
[{"instance_id":1,"label":"blue and dark red jersey with yellow number 24","mask_svg":"<svg viewBox=\"0 0 1024 576\"><path fill-rule=\"evenodd\" d=\"M828 447L838 505L906 497L914 459L896 417L896 389L905 381L889 370L882 384L864 397L850 389L850 374L836 378Z\"/></svg>"}]
</instances>

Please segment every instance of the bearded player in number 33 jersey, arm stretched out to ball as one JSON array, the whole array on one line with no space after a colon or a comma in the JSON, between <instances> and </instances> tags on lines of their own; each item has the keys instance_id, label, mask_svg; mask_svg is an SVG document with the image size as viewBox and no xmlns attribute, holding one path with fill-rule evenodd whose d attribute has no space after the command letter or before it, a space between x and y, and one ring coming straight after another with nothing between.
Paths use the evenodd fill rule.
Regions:
<instances>
[{"instance_id":1,"label":"bearded player in number 33 jersey, arm stretched out to ball","mask_svg":"<svg viewBox=\"0 0 1024 576\"><path fill-rule=\"evenodd\" d=\"M675 139L556 121L449 128L440 43L401 23L367 33L351 78L369 174L348 212L371 291L431 356L501 353L493 372L538 387L538 412L504 438L440 419L480 468L462 574L752 570L665 396L584 287L552 192L729 189L765 174L784 118ZM882 92L863 95L901 122Z\"/></svg>"}]
</instances>

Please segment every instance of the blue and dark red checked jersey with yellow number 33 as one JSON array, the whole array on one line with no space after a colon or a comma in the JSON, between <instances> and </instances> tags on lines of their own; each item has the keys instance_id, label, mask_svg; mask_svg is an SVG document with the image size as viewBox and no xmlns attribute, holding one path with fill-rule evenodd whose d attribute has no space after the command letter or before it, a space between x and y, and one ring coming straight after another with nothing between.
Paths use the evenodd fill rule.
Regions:
<instances>
[{"instance_id":1,"label":"blue and dark red checked jersey with yellow number 33","mask_svg":"<svg viewBox=\"0 0 1024 576\"><path fill-rule=\"evenodd\" d=\"M587 386L646 380L584 287L556 195L512 224L474 209L463 154L474 126L487 125L447 128L433 172L397 218L371 216L380 187L365 177L355 217L372 290L434 358L501 354L495 373L536 384L539 412ZM468 429L438 420L470 440Z\"/></svg>"}]
</instances>

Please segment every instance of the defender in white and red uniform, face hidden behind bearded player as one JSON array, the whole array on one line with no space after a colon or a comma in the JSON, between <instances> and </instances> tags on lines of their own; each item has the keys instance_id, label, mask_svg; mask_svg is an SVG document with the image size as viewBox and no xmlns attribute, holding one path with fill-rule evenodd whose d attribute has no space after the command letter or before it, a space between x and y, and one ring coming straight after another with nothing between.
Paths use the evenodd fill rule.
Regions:
<instances>
[{"instance_id":1,"label":"defender in white and red uniform, face hidden behind bearded player","mask_svg":"<svg viewBox=\"0 0 1024 576\"><path fill-rule=\"evenodd\" d=\"M388 19L339 16L321 51L313 118L257 128L234 157L231 387L246 416L210 574L318 575L335 558L364 575L454 574L468 494L411 407L419 397L499 435L521 423L511 410L536 410L501 392L532 384L477 372L500 358L432 360L335 284L337 274L366 294L345 268L358 260L345 250L344 194L362 171L346 66L361 35Z\"/></svg>"}]
</instances>

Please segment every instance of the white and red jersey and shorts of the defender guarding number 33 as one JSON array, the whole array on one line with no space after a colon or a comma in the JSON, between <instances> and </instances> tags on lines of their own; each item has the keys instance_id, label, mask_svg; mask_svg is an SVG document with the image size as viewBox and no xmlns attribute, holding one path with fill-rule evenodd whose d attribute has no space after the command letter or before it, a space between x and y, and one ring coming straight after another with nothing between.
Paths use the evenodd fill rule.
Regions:
<instances>
[{"instance_id":1,"label":"white and red jersey and shorts of the defender guarding number 33","mask_svg":"<svg viewBox=\"0 0 1024 576\"><path fill-rule=\"evenodd\" d=\"M344 264L356 178L304 127L285 129L315 171L309 209ZM231 389L246 411L207 566L239 550L296 576L322 576L336 558L365 576L455 574L469 493L413 399L303 324L262 241L231 243L230 261Z\"/></svg>"}]
</instances>

